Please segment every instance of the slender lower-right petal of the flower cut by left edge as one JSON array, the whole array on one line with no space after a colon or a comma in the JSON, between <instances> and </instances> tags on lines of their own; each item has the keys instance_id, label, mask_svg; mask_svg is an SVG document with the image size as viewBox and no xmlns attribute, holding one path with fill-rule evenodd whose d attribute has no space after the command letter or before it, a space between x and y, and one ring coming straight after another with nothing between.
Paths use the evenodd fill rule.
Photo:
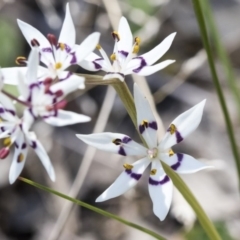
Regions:
<instances>
[{"instance_id":1,"label":"slender lower-right petal of the flower cut by left edge","mask_svg":"<svg viewBox=\"0 0 240 240\"><path fill-rule=\"evenodd\" d=\"M51 160L50 160L46 150L42 146L41 142L39 142L37 140L35 133L29 132L28 144L34 149L35 153L39 157L44 168L46 169L50 179L54 182L55 181L55 172L54 172L54 168L52 166Z\"/></svg>"}]
</instances>

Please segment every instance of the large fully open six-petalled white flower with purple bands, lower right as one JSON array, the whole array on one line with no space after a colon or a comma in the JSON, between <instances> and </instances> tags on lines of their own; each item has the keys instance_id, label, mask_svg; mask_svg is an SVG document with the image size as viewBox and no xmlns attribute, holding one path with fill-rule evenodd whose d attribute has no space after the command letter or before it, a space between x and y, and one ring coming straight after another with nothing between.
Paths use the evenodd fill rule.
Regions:
<instances>
[{"instance_id":1,"label":"large fully open six-petalled white flower with purple bands, lower right","mask_svg":"<svg viewBox=\"0 0 240 240\"><path fill-rule=\"evenodd\" d=\"M198 127L202 118L205 100L174 119L160 142L157 139L157 122L150 110L149 103L136 84L134 85L134 100L139 132L145 139L148 148L136 143L129 136L120 133L77 134L77 137L101 150L123 156L142 156L140 160L133 164L125 163L123 165L124 172L97 198L97 202L117 197L135 186L144 170L151 163L148 184L149 194L153 202L155 215L160 220L164 220L171 205L173 184L164 172L161 161L168 164L177 173L194 173L209 167L189 155L174 153L171 149L173 145L181 142Z\"/></svg>"}]
</instances>

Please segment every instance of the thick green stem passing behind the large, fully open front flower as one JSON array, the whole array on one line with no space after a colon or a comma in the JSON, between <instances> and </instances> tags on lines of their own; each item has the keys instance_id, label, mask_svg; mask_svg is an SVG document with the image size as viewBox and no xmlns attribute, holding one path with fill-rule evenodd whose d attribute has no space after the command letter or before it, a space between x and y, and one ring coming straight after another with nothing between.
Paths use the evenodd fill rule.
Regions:
<instances>
[{"instance_id":1,"label":"thick green stem passing behind the large, fully open front flower","mask_svg":"<svg viewBox=\"0 0 240 240\"><path fill-rule=\"evenodd\" d=\"M131 116L131 119L136 124L136 109L133 101L133 97L127 88L126 83L122 82L121 84L116 84L115 89L117 93L119 94L119 97L121 98L124 106L127 109L127 112ZM137 127L136 127L137 128ZM138 128L137 128L138 130ZM146 142L143 141L144 145L147 147ZM167 166L164 162L162 162L163 168L166 171L166 173L169 175L169 177L172 179L175 187L181 192L181 194L184 196L186 201L189 203L189 205L193 208L195 211L197 218L202 225L203 229L206 231L207 235L212 240L221 240L220 236L218 235L214 225L202 209L202 207L199 205L198 201L194 197L194 195L191 193L187 185L184 183L184 181L178 176L177 173L175 173L169 166Z\"/></svg>"}]
</instances>

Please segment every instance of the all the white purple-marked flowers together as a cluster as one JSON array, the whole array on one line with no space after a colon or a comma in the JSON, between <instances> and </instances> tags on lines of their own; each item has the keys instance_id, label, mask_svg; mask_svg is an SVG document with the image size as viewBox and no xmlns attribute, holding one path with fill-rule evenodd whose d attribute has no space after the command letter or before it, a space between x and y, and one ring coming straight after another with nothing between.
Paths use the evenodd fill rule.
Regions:
<instances>
[{"instance_id":1,"label":"all the white purple-marked flowers together as a cluster","mask_svg":"<svg viewBox=\"0 0 240 240\"><path fill-rule=\"evenodd\" d=\"M50 178L55 180L51 161L35 133L31 131L32 124L37 118L41 117L53 126L90 121L88 116L63 110L66 95L85 87L85 79L69 72L67 70L69 66L80 65L90 71L103 70L106 72L103 81L113 78L124 81L127 74L147 76L174 62L166 60L153 65L170 48L175 33L169 35L151 51L137 56L140 38L133 39L124 17L120 20L118 32L112 33L115 45L110 59L99 45L100 34L97 32L89 35L80 45L75 44L76 33L68 4L58 41L53 34L48 34L46 38L37 29L21 20L18 20L18 25L31 46L31 53L28 59L25 57L16 59L19 65L24 66L2 68L0 73L1 89L4 84L13 84L17 85L19 91L18 98L3 90L0 92L0 117L3 120L0 122L0 138L4 139L0 158L8 156L11 146L15 148L10 167L10 183L18 178L24 167L28 146L35 150ZM93 53L95 48L99 50L101 57ZM139 132L147 147L120 133L78 134L77 137L101 150L123 156L142 156L133 164L123 165L123 173L97 198L97 202L117 197L135 186L144 170L151 164L149 193L154 213L163 220L171 204L173 184L164 172L161 161L177 173L192 173L208 167L189 155L175 154L171 149L197 128L202 118L205 100L178 116L170 124L161 141L157 139L158 126L149 103L136 84L134 100ZM16 115L13 102L24 105L21 118Z\"/></svg>"}]
</instances>

